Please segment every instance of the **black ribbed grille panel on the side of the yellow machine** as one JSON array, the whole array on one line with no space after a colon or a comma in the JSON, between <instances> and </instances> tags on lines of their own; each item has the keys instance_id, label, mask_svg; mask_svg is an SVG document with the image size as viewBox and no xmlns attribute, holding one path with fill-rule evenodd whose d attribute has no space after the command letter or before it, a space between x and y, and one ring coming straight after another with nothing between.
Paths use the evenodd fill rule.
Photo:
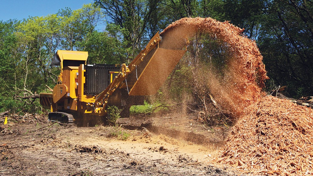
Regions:
<instances>
[{"instance_id":1,"label":"black ribbed grille panel on the side of the yellow machine","mask_svg":"<svg viewBox=\"0 0 313 176\"><path fill-rule=\"evenodd\" d=\"M108 64L85 65L85 95L98 95L110 84L110 71L119 71L121 67ZM114 78L114 75L113 75Z\"/></svg>"}]
</instances>

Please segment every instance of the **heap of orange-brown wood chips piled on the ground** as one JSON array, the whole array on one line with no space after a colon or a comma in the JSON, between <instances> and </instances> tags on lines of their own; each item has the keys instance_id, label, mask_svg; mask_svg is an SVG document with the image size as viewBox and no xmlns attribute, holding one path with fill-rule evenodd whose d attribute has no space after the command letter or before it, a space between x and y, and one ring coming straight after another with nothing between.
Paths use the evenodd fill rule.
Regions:
<instances>
[{"instance_id":1,"label":"heap of orange-brown wood chips piled on the ground","mask_svg":"<svg viewBox=\"0 0 313 176\"><path fill-rule=\"evenodd\" d=\"M313 174L313 109L266 96L233 127L219 163L243 173Z\"/></svg>"}]
</instances>

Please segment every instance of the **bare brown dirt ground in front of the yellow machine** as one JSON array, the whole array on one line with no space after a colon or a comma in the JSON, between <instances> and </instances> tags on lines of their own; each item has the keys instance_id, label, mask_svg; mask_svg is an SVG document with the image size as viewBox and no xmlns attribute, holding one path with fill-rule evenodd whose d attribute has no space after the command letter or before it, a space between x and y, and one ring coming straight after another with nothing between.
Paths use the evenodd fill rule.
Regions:
<instances>
[{"instance_id":1,"label":"bare brown dirt ground in front of the yellow machine","mask_svg":"<svg viewBox=\"0 0 313 176\"><path fill-rule=\"evenodd\" d=\"M38 120L37 120L38 119ZM166 114L120 119L113 127L61 126L46 117L8 119L0 125L0 175L237 175L210 159L219 154L226 127L206 127L194 117Z\"/></svg>"}]
</instances>

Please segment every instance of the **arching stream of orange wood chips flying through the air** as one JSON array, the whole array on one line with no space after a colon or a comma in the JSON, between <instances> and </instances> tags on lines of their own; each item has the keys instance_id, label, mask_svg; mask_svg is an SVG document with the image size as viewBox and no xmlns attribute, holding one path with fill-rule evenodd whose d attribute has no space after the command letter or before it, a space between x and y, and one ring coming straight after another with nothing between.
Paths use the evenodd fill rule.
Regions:
<instances>
[{"instance_id":1,"label":"arching stream of orange wood chips flying through the air","mask_svg":"<svg viewBox=\"0 0 313 176\"><path fill-rule=\"evenodd\" d=\"M227 60L227 70L223 70L228 79L219 80L208 75L211 83L208 87L224 109L242 114L250 104L259 100L264 80L268 78L256 43L242 35L243 29L228 22L212 18L182 18L162 31L160 48L183 49L187 39L198 32L228 44L232 57Z\"/></svg>"}]
</instances>

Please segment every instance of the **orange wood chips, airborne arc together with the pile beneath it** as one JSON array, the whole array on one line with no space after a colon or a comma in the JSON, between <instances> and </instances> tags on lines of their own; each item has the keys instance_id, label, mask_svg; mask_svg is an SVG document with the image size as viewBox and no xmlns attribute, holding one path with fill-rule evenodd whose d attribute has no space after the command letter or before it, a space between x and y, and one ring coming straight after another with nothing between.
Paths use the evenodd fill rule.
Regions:
<instances>
[{"instance_id":1,"label":"orange wood chips, airborne arc together with the pile beneath it","mask_svg":"<svg viewBox=\"0 0 313 176\"><path fill-rule=\"evenodd\" d=\"M225 80L211 76L210 93L238 119L216 161L253 175L311 175L313 165L313 110L288 100L264 97L266 76L256 43L243 29L212 18L182 18L160 34L160 47L182 49L197 32L228 44Z\"/></svg>"}]
</instances>

